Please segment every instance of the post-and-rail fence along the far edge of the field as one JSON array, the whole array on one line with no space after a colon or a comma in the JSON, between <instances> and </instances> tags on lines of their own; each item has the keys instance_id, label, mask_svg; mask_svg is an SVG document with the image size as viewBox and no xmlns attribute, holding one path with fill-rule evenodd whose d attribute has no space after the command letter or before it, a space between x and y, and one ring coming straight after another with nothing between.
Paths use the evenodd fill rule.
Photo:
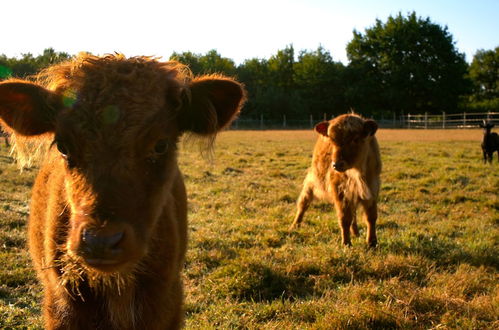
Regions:
<instances>
[{"instance_id":1,"label":"post-and-rail fence along the far edge of the field","mask_svg":"<svg viewBox=\"0 0 499 330\"><path fill-rule=\"evenodd\" d=\"M267 119L260 116L259 119L237 119L231 126L231 129L311 129L320 121L331 119L332 117L324 114L322 118L309 116L307 119ZM428 113L421 115L403 115L392 116L391 118L374 118L381 128L474 128L478 127L483 120L499 123L499 112L463 112L447 114L442 112L439 115L430 115Z\"/></svg>"}]
</instances>

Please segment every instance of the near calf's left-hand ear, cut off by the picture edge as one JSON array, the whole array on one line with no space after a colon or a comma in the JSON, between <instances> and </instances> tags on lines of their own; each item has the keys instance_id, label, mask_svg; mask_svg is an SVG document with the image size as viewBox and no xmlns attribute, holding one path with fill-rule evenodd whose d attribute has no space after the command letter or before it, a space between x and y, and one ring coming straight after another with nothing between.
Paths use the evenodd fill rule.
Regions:
<instances>
[{"instance_id":1,"label":"near calf's left-hand ear, cut off by the picture edge","mask_svg":"<svg viewBox=\"0 0 499 330\"><path fill-rule=\"evenodd\" d=\"M0 123L7 131L24 136L53 132L55 117L62 107L59 95L34 83L0 83Z\"/></svg>"}]
</instances>

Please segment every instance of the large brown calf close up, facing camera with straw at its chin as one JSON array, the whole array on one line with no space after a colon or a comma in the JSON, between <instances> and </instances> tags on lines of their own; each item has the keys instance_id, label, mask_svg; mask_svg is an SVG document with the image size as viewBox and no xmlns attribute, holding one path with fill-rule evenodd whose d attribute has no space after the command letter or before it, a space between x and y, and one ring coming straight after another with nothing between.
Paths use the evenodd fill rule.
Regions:
<instances>
[{"instance_id":1,"label":"large brown calf close up, facing camera with straw at its chin","mask_svg":"<svg viewBox=\"0 0 499 330\"><path fill-rule=\"evenodd\" d=\"M52 141L29 221L48 329L182 326L187 201L177 142L185 132L213 138L244 95L229 78L121 55L84 55L37 84L0 84L3 126Z\"/></svg>"}]
</instances>

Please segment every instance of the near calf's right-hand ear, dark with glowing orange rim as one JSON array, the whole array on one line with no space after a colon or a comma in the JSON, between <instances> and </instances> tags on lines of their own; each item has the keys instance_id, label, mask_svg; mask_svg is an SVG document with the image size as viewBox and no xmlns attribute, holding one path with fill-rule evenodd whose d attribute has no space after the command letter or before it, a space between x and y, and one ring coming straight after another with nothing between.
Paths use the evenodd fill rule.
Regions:
<instances>
[{"instance_id":1,"label":"near calf's right-hand ear, dark with glowing orange rim","mask_svg":"<svg viewBox=\"0 0 499 330\"><path fill-rule=\"evenodd\" d=\"M179 114L180 128L200 135L214 134L229 126L246 95L240 83L218 75L193 79L188 94L189 100Z\"/></svg>"}]
</instances>

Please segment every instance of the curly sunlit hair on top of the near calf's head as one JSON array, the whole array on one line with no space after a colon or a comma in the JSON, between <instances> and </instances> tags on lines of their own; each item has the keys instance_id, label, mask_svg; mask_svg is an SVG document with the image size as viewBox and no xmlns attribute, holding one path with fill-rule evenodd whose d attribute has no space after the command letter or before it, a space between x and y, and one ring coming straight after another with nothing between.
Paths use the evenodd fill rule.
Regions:
<instances>
[{"instance_id":1,"label":"curly sunlit hair on top of the near calf's head","mask_svg":"<svg viewBox=\"0 0 499 330\"><path fill-rule=\"evenodd\" d=\"M119 118L141 126L157 116L167 98L180 98L191 80L189 69L178 62L123 55L97 57L83 54L42 71L39 82L62 95L66 112L90 124L97 119L115 123ZM95 129L98 123L94 123ZM122 123L124 124L124 123Z\"/></svg>"}]
</instances>

